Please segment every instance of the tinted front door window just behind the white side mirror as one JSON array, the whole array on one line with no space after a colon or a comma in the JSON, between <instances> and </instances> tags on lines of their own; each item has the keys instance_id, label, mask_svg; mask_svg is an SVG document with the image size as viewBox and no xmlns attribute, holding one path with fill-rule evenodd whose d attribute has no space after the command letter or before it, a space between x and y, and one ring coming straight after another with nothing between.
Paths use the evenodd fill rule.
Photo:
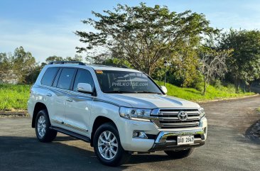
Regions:
<instances>
[{"instance_id":1,"label":"tinted front door window just behind the white side mirror","mask_svg":"<svg viewBox=\"0 0 260 171\"><path fill-rule=\"evenodd\" d=\"M94 82L92 79L92 75L90 74L90 72L88 70L78 70L77 71L77 75L76 75L74 86L73 86L74 91L77 91L77 84L79 84L79 83L90 84L92 87L92 90L93 90Z\"/></svg>"}]
</instances>

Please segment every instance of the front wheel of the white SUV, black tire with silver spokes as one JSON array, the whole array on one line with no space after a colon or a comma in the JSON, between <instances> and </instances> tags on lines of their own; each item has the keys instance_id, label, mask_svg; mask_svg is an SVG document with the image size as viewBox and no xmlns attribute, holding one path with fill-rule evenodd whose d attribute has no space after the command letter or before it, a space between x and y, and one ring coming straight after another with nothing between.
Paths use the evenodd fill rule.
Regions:
<instances>
[{"instance_id":1,"label":"front wheel of the white SUV, black tire with silver spokes","mask_svg":"<svg viewBox=\"0 0 260 171\"><path fill-rule=\"evenodd\" d=\"M131 154L122 148L119 133L113 123L104 123L97 128L94 133L93 145L94 153L103 165L123 165L131 157Z\"/></svg>"}]
</instances>

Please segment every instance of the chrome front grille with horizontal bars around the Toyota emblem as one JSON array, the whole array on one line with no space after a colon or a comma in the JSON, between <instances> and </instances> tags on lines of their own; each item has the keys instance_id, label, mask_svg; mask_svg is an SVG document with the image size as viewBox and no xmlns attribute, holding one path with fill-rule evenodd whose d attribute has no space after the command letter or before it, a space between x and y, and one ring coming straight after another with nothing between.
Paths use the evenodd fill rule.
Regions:
<instances>
[{"instance_id":1,"label":"chrome front grille with horizontal bars around the Toyota emblem","mask_svg":"<svg viewBox=\"0 0 260 171\"><path fill-rule=\"evenodd\" d=\"M188 118L181 121L178 113L184 111ZM160 109L158 121L161 128L185 128L198 126L200 123L200 113L197 109Z\"/></svg>"}]
</instances>

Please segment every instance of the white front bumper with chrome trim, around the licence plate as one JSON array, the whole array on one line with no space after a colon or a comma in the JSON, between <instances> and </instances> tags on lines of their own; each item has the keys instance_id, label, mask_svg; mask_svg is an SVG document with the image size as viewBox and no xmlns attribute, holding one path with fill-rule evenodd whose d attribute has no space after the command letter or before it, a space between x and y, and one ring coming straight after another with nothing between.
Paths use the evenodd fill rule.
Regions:
<instances>
[{"instance_id":1,"label":"white front bumper with chrome trim, around the licence plate","mask_svg":"<svg viewBox=\"0 0 260 171\"><path fill-rule=\"evenodd\" d=\"M119 129L121 145L124 150L129 151L182 150L204 145L207 139L207 118L205 117L200 120L199 126L191 128L158 129L153 123L140 121L129 124L126 125L127 129L123 129L124 131ZM133 131L143 131L148 138L133 138ZM177 145L178 136L185 135L194 136L194 143L191 145Z\"/></svg>"}]
</instances>

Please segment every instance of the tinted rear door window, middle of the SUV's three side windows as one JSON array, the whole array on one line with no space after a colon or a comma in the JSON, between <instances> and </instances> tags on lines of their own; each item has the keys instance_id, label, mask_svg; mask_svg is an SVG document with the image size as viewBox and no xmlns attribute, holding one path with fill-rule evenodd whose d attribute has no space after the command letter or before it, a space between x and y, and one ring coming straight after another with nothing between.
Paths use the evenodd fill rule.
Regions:
<instances>
[{"instance_id":1,"label":"tinted rear door window, middle of the SUV's three side windows","mask_svg":"<svg viewBox=\"0 0 260 171\"><path fill-rule=\"evenodd\" d=\"M74 75L74 68L63 68L60 73L60 78L57 83L57 87L60 89L70 89L70 84Z\"/></svg>"}]
</instances>

